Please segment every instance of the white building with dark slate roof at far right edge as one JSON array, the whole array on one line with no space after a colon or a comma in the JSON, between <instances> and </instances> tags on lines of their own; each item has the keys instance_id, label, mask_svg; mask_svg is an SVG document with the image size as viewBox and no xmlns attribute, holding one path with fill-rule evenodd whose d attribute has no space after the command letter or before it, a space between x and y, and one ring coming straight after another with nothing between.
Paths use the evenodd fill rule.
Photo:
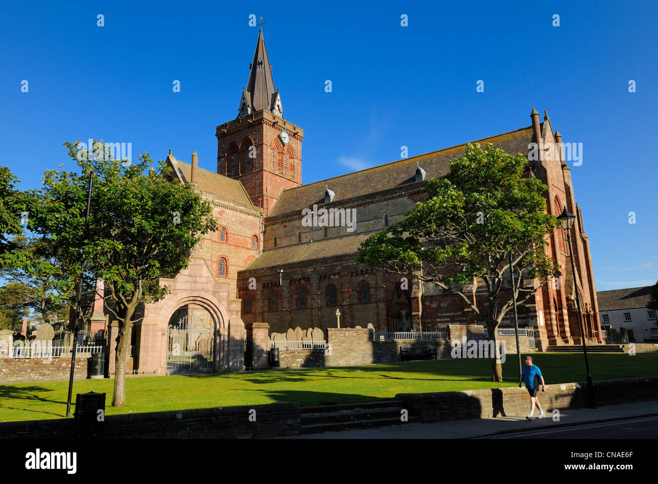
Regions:
<instances>
[{"instance_id":1,"label":"white building with dark slate roof at far right edge","mask_svg":"<svg viewBox=\"0 0 658 484\"><path fill-rule=\"evenodd\" d=\"M629 342L658 342L656 311L647 309L649 296L651 286L597 291L601 329L619 333L624 328Z\"/></svg>"}]
</instances>

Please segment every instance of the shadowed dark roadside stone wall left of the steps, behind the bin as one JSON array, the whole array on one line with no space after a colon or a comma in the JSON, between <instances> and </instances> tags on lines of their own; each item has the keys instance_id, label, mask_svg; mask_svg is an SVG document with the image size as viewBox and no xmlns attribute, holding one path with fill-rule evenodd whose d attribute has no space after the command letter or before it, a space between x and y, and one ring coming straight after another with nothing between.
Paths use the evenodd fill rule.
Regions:
<instances>
[{"instance_id":1,"label":"shadowed dark roadside stone wall left of the steps, behind the bin","mask_svg":"<svg viewBox=\"0 0 658 484\"><path fill-rule=\"evenodd\" d=\"M255 439L296 435L299 433L299 427L299 404L277 402L267 405L106 416L103 437L105 439ZM74 437L76 437L76 426L72 418L0 423L0 439Z\"/></svg>"}]
</instances>

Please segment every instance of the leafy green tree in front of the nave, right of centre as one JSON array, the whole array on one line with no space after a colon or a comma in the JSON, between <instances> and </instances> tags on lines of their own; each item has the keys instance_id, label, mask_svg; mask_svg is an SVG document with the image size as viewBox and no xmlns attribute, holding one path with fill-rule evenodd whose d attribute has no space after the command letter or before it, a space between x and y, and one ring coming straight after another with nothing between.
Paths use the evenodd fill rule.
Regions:
<instances>
[{"instance_id":1,"label":"leafy green tree in front of the nave, right of centre","mask_svg":"<svg viewBox=\"0 0 658 484\"><path fill-rule=\"evenodd\" d=\"M537 178L524 178L527 161L491 144L486 149L467 144L465 155L450 163L445 177L426 182L424 202L361 244L357 262L413 275L454 294L474 311L497 345L496 329L514 298L523 304L548 279L560 275L559 265L545 252L547 236L558 221L545 213L547 186ZM513 296L510 251L516 275ZM469 298L464 286L474 279L484 281L488 304L476 306ZM491 365L492 380L502 381L495 356Z\"/></svg>"}]
</instances>

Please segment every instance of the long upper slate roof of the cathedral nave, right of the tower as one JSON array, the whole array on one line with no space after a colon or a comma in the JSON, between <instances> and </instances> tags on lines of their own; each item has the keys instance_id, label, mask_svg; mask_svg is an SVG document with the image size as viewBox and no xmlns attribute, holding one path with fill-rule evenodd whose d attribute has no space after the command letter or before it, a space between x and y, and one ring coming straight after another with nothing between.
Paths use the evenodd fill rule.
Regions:
<instances>
[{"instance_id":1,"label":"long upper slate roof of the cathedral nave, right of the tower","mask_svg":"<svg viewBox=\"0 0 658 484\"><path fill-rule=\"evenodd\" d=\"M542 123L543 125L544 123ZM513 155L528 153L528 144L532 142L532 126L519 130L498 134L490 138L476 140L483 148L492 143L494 148L501 148ZM426 178L445 176L448 173L450 161L459 158L466 152L466 144L451 148L432 151L413 158L402 159L372 167L361 171L335 176L295 188L284 190L274 206L270 216L284 213L299 212L313 203L324 203L324 186L336 192L334 202L342 202L363 195L374 194L396 186L415 181L416 163L427 173Z\"/></svg>"}]
</instances>

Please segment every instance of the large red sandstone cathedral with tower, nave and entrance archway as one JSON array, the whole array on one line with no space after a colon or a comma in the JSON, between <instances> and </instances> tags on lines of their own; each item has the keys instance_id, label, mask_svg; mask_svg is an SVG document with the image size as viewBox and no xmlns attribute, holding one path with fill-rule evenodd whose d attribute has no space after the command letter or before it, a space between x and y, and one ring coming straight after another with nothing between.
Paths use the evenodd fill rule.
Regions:
<instances>
[{"instance_id":1,"label":"large red sandstone cathedral with tower, nave and entrance archway","mask_svg":"<svg viewBox=\"0 0 658 484\"><path fill-rule=\"evenodd\" d=\"M424 200L425 180L445 175L449 162L465 153L465 144L302 184L304 132L283 117L285 90L282 95L274 85L262 30L250 68L238 116L216 127L216 171L199 168L196 152L187 163L169 151L166 163L173 176L211 201L220 229L203 237L189 269L163 281L170 294L144 308L144 319L133 331L133 344L140 348L134 367L164 373L167 328L193 311L207 315L209 327L214 326L215 371L244 364L244 339L251 328L270 333L335 328L336 309L341 327L347 328L371 324L376 331L439 331L448 324L478 324L456 296L432 284L413 280L403 288L394 274L355 263L361 242ZM576 273L563 231L555 230L548 250L563 275L519 306L520 327L538 331L540 350L580 344L577 291L586 342L601 343L590 244L570 169L557 149L561 135L546 113L540 119L533 108L529 126L473 142L527 155L528 176L549 187L547 211L557 216L567 207L577 217L572 229ZM531 155L533 144L541 149ZM551 152L557 155L547 155ZM323 219L321 213L330 217ZM469 291L476 304L486 305L481 281L473 281ZM503 325L513 325L509 314Z\"/></svg>"}]
</instances>

